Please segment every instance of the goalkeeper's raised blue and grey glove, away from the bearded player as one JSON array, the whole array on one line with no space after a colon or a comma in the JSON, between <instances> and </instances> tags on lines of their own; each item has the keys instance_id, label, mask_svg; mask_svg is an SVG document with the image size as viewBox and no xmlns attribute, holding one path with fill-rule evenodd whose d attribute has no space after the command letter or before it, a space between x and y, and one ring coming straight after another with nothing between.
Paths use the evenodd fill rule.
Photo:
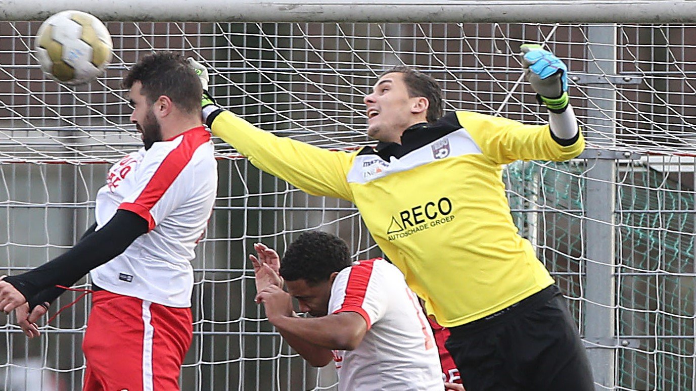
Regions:
<instances>
[{"instance_id":1,"label":"goalkeeper's raised blue and grey glove, away from the bearded player","mask_svg":"<svg viewBox=\"0 0 696 391\"><path fill-rule=\"evenodd\" d=\"M525 79L537 93L537 100L549 111L562 113L568 107L568 68L540 45L520 47Z\"/></svg>"}]
</instances>

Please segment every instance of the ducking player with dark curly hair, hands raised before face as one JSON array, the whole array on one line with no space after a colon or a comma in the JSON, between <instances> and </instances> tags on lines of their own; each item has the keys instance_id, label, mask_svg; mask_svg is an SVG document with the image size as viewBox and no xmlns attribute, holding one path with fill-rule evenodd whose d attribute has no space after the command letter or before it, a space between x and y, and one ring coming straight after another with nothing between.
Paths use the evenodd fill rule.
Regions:
<instances>
[{"instance_id":1,"label":"ducking player with dark curly hair, hands raised before face","mask_svg":"<svg viewBox=\"0 0 696 391\"><path fill-rule=\"evenodd\" d=\"M325 232L301 234L279 267L274 250L255 249L257 301L311 365L335 362L339 390L443 390L432 331L399 269L379 258L352 264L345 242ZM313 318L294 314L291 296Z\"/></svg>"}]
</instances>

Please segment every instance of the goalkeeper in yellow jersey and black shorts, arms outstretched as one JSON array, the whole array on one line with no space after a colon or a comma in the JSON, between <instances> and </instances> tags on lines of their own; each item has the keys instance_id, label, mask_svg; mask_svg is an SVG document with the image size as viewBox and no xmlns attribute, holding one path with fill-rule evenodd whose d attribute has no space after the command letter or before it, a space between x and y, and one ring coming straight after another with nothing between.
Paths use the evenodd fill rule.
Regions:
<instances>
[{"instance_id":1,"label":"goalkeeper in yellow jersey and black shorts, arms outstretched","mask_svg":"<svg viewBox=\"0 0 696 391\"><path fill-rule=\"evenodd\" d=\"M578 328L558 287L517 232L503 165L567 161L585 147L567 67L539 45L521 63L548 125L470 111L443 115L441 87L410 67L365 96L374 147L325 150L253 127L204 93L214 135L261 170L317 196L354 202L374 240L450 330L467 390L594 390ZM207 71L192 59L204 89Z\"/></svg>"}]
</instances>

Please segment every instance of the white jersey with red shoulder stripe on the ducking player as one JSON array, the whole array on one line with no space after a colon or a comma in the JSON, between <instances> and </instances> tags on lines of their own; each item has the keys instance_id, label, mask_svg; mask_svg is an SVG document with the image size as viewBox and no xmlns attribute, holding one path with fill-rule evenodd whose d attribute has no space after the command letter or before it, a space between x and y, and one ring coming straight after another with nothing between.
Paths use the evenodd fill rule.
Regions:
<instances>
[{"instance_id":1,"label":"white jersey with red shoulder stripe on the ducking player","mask_svg":"<svg viewBox=\"0 0 696 391\"><path fill-rule=\"evenodd\" d=\"M418 296L404 275L380 258L338 273L329 313L357 312L367 322L352 351L333 351L339 390L442 391L440 360Z\"/></svg>"}]
</instances>

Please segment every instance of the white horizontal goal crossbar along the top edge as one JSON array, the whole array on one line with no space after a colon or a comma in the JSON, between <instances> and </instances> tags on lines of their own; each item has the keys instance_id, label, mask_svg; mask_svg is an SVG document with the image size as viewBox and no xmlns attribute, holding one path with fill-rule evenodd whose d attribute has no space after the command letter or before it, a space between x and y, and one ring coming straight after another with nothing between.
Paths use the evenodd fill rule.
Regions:
<instances>
[{"instance_id":1,"label":"white horizontal goal crossbar along the top edge","mask_svg":"<svg viewBox=\"0 0 696 391\"><path fill-rule=\"evenodd\" d=\"M0 0L0 20L41 20L61 10L83 10L121 22L500 22L690 23L690 0ZM628 4L630 3L630 4Z\"/></svg>"}]
</instances>

